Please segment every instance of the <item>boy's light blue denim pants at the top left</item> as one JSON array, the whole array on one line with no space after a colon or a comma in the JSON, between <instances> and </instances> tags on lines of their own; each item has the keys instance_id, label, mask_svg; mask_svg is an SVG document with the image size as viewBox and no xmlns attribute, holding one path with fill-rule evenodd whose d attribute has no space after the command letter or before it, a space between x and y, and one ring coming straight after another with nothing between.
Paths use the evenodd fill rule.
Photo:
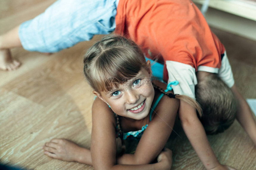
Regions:
<instances>
[{"instance_id":1,"label":"boy's light blue denim pants at the top left","mask_svg":"<svg viewBox=\"0 0 256 170\"><path fill-rule=\"evenodd\" d=\"M108 34L115 30L118 1L58 0L21 24L21 44L28 51L58 52L96 34Z\"/></svg>"}]
</instances>

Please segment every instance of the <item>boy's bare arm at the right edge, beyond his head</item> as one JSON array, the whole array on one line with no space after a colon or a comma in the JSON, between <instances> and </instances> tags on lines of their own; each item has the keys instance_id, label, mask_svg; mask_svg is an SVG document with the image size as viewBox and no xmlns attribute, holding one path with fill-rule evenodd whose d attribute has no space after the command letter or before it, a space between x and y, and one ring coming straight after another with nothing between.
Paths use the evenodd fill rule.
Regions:
<instances>
[{"instance_id":1,"label":"boy's bare arm at the right edge, beyond his head","mask_svg":"<svg viewBox=\"0 0 256 170\"><path fill-rule=\"evenodd\" d=\"M256 146L256 124L254 116L252 115L252 111L246 100L244 100L243 96L238 92L238 89L235 85L231 87L231 90L235 94L238 102L238 112L236 115L236 119Z\"/></svg>"}]
</instances>

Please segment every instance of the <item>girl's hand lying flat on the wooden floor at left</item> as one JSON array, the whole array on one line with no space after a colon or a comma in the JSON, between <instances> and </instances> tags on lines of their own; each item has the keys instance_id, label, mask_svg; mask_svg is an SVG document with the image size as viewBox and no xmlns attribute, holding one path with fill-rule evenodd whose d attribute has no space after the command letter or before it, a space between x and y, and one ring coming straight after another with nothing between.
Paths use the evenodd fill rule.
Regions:
<instances>
[{"instance_id":1,"label":"girl's hand lying flat on the wooden floor at left","mask_svg":"<svg viewBox=\"0 0 256 170\"><path fill-rule=\"evenodd\" d=\"M51 158L63 161L77 161L79 155L79 147L74 142L66 139L52 139L43 146L44 154Z\"/></svg>"}]
</instances>

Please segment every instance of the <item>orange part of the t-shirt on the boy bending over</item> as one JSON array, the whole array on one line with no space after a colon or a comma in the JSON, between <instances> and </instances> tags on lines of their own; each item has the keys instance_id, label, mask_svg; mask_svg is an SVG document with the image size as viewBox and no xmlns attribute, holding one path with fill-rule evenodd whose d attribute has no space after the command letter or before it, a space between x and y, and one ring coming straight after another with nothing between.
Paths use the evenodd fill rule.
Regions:
<instances>
[{"instance_id":1,"label":"orange part of the t-shirt on the boy bending over","mask_svg":"<svg viewBox=\"0 0 256 170\"><path fill-rule=\"evenodd\" d=\"M220 68L225 48L190 0L119 0L115 33L132 39L146 57ZM166 65L164 81L168 80Z\"/></svg>"}]
</instances>

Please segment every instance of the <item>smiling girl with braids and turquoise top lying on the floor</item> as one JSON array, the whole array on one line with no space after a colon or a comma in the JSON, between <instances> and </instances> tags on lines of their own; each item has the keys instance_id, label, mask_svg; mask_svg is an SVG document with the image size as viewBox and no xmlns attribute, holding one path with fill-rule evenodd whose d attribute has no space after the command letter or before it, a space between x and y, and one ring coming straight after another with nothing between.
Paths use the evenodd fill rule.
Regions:
<instances>
[{"instance_id":1,"label":"smiling girl with braids and turquoise top lying on the floor","mask_svg":"<svg viewBox=\"0 0 256 170\"><path fill-rule=\"evenodd\" d=\"M166 84L148 81L150 61L146 62L133 41L121 36L105 36L94 44L85 54L84 73L97 96L92 109L91 152L65 139L52 139L44 146L45 154L90 164L94 169L170 169L149 163L165 146L178 110L180 115L184 112L179 106L189 103L201 116L200 106L190 97L173 94L171 86L177 82L169 83L164 91ZM135 153L118 155L116 137L121 138L122 148L124 139L139 138ZM210 147L208 150L206 168L227 169Z\"/></svg>"}]
</instances>

